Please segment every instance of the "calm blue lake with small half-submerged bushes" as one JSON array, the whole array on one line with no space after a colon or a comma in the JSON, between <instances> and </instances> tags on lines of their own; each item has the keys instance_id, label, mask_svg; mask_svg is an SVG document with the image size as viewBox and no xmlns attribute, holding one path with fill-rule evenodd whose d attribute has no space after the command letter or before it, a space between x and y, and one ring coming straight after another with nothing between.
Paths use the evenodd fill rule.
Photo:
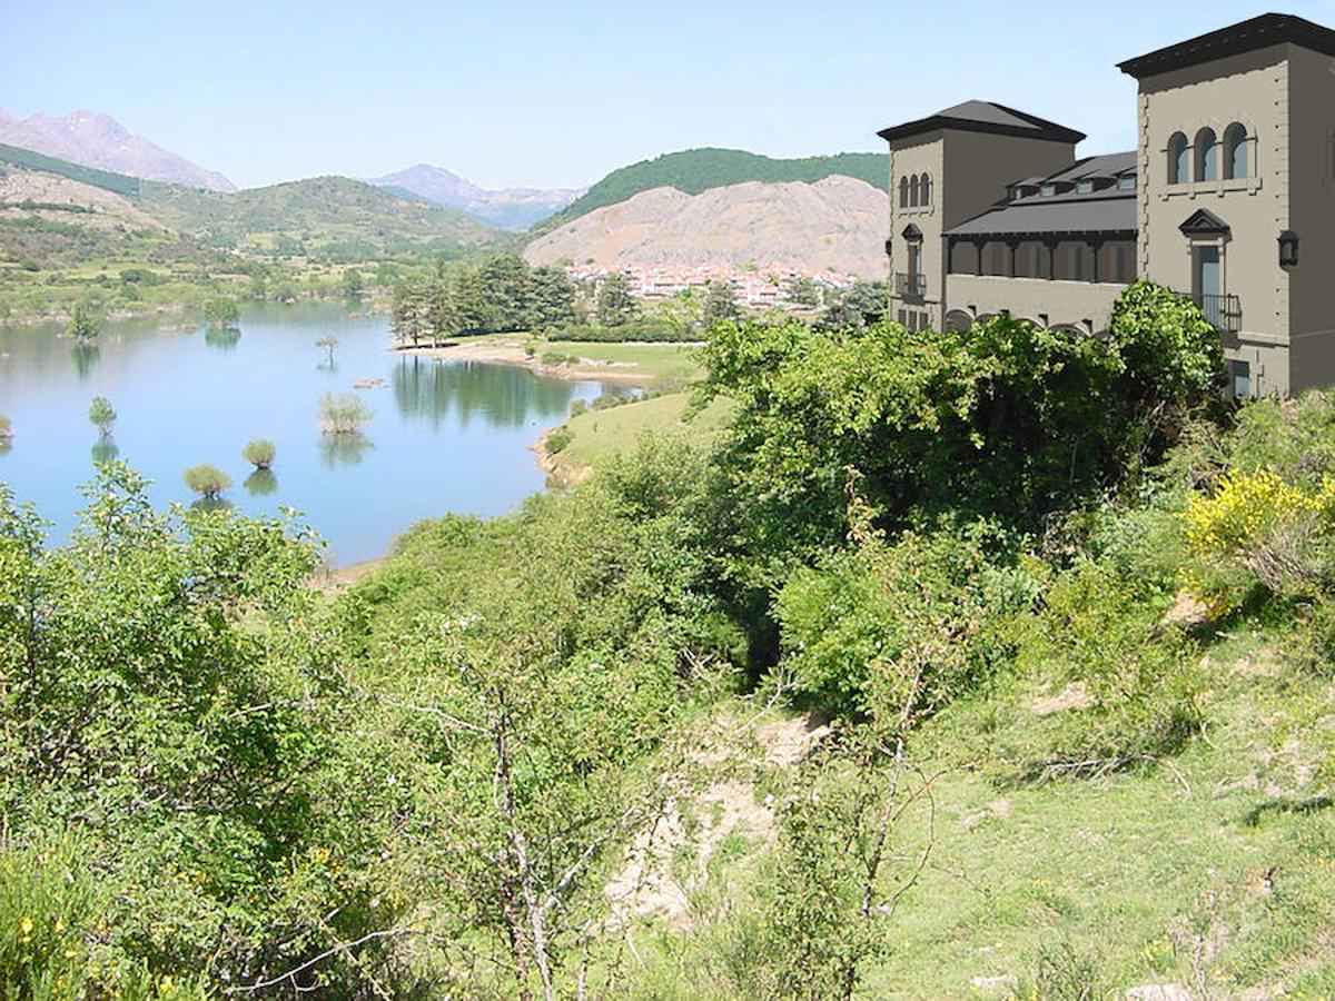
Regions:
<instances>
[{"instance_id":1,"label":"calm blue lake with small half-submerged bushes","mask_svg":"<svg viewBox=\"0 0 1335 1001\"><path fill-rule=\"evenodd\" d=\"M339 339L332 364L315 347L327 334ZM35 502L59 541L95 458L129 462L163 506L194 500L182 472L210 462L232 478L232 505L295 507L344 566L382 555L421 518L513 510L543 486L529 446L571 400L602 391L507 366L402 356L388 343L386 318L332 304L243 312L239 338L108 324L93 350L59 330L0 327L0 414L15 430L0 482ZM375 411L366 443L322 435L319 398L376 378L384 386L358 391ZM107 440L88 422L97 395L119 415ZM251 438L278 446L267 482L242 459Z\"/></svg>"}]
</instances>

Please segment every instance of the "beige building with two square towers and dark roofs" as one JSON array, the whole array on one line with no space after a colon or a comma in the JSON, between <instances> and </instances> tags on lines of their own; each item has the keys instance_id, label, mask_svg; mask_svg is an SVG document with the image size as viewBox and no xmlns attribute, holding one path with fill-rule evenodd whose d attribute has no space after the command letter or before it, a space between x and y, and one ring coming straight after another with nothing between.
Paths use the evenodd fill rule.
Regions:
<instances>
[{"instance_id":1,"label":"beige building with two square towers and dark roofs","mask_svg":"<svg viewBox=\"0 0 1335 1001\"><path fill-rule=\"evenodd\" d=\"M892 316L1097 335L1144 276L1202 306L1236 395L1335 383L1335 31L1263 15L1119 68L1135 151L988 101L880 132Z\"/></svg>"}]
</instances>

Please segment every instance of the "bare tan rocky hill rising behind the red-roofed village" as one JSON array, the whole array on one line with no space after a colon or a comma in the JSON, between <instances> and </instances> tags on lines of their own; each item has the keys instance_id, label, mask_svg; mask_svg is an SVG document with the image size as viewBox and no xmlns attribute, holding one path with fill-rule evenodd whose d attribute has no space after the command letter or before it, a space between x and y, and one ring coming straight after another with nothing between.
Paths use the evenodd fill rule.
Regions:
<instances>
[{"instance_id":1,"label":"bare tan rocky hill rising behind the red-roofed village","mask_svg":"<svg viewBox=\"0 0 1335 1001\"><path fill-rule=\"evenodd\" d=\"M880 278L889 196L856 178L642 191L525 250L534 264L765 264Z\"/></svg>"}]
</instances>

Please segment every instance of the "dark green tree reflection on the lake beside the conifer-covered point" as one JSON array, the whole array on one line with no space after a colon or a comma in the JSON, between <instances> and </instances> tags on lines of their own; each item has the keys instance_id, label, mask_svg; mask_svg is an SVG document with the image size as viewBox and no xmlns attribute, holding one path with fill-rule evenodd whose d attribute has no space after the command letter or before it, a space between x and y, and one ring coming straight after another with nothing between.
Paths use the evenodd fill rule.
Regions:
<instances>
[{"instance_id":1,"label":"dark green tree reflection on the lake beside the conifer-covered point","mask_svg":"<svg viewBox=\"0 0 1335 1001\"><path fill-rule=\"evenodd\" d=\"M422 355L399 358L392 388L400 415L427 420L433 427L450 420L467 427L474 416L489 427L522 427L534 416L565 416L574 395L571 384L537 379L525 368L438 362Z\"/></svg>"}]
</instances>

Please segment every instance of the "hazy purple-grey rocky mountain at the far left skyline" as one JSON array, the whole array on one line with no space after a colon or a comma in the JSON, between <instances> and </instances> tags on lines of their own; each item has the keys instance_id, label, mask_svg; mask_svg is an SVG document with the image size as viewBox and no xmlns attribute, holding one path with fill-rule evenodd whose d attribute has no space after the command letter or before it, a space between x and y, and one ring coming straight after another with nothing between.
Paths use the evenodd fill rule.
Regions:
<instances>
[{"instance_id":1,"label":"hazy purple-grey rocky mountain at the far left skyline","mask_svg":"<svg viewBox=\"0 0 1335 1001\"><path fill-rule=\"evenodd\" d=\"M92 111L75 111L63 117L37 113L15 119L0 109L0 143L147 180L236 191L223 175L168 152L129 132L113 117Z\"/></svg>"}]
</instances>

